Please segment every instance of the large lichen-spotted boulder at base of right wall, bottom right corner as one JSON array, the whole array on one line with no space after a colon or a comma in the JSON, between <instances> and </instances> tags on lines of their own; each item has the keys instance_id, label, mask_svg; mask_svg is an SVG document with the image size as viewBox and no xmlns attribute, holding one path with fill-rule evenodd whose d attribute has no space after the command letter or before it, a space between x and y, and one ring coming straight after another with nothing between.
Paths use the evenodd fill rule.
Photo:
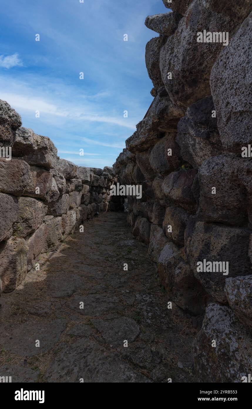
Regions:
<instances>
[{"instance_id":1,"label":"large lichen-spotted boulder at base of right wall, bottom right corner","mask_svg":"<svg viewBox=\"0 0 252 409\"><path fill-rule=\"evenodd\" d=\"M252 367L251 333L231 308L216 303L207 306L194 343L194 367L198 382L240 383L243 376L248 377Z\"/></svg>"}]
</instances>

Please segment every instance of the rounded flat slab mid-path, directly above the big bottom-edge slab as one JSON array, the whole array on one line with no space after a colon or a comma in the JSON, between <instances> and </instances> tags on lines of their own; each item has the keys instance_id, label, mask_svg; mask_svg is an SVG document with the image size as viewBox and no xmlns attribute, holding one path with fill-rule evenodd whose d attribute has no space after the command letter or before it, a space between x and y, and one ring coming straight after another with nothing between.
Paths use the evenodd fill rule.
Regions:
<instances>
[{"instance_id":1,"label":"rounded flat slab mid-path, directly above the big bottom-edge slab","mask_svg":"<svg viewBox=\"0 0 252 409\"><path fill-rule=\"evenodd\" d=\"M123 346L125 340L133 342L140 334L140 328L132 318L120 317L112 321L92 319L91 323L99 331L105 342L115 346Z\"/></svg>"}]
</instances>

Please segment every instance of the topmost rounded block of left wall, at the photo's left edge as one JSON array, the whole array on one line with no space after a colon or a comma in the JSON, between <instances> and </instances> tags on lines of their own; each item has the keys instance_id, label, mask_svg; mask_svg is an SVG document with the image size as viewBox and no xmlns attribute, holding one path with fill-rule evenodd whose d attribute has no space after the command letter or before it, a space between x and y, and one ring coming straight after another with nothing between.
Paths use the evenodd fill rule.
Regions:
<instances>
[{"instance_id":1,"label":"topmost rounded block of left wall, at the photo's left edge","mask_svg":"<svg viewBox=\"0 0 252 409\"><path fill-rule=\"evenodd\" d=\"M20 115L0 99L0 146L13 146L16 130L22 125Z\"/></svg>"}]
</instances>

